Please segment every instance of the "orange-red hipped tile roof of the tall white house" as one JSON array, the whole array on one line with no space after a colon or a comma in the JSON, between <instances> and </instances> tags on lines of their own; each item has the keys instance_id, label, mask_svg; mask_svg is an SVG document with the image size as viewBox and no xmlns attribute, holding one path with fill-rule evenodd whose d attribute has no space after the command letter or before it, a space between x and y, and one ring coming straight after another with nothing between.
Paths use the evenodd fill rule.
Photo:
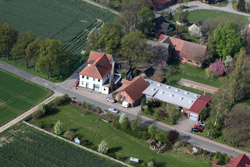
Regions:
<instances>
[{"instance_id":1,"label":"orange-red hipped tile roof of the tall white house","mask_svg":"<svg viewBox=\"0 0 250 167\"><path fill-rule=\"evenodd\" d=\"M87 61L90 64L80 72L80 75L104 79L111 72L111 59L112 55L91 51Z\"/></svg>"}]
</instances>

